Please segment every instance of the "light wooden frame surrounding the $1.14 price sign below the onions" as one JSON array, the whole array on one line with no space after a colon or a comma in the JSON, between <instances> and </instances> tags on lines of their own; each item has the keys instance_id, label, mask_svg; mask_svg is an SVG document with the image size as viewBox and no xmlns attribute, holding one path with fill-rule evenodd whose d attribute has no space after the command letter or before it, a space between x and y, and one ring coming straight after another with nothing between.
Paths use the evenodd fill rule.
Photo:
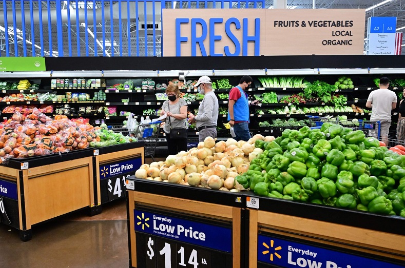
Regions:
<instances>
[{"instance_id":1,"label":"light wooden frame surrounding the $1.14 price sign below the onions","mask_svg":"<svg viewBox=\"0 0 405 268\"><path fill-rule=\"evenodd\" d=\"M137 189L135 187L135 189ZM184 191L185 189L178 189ZM207 190L205 190L207 191ZM191 196L190 196L191 197ZM192 198L192 197L191 197ZM135 233L134 210L139 206L147 206L159 210L188 214L198 218L209 218L232 222L232 267L241 267L241 211L240 208L215 203L201 202L190 199L156 195L128 190L128 233L129 233L129 265L141 267L137 262L137 235ZM138 221L138 220L137 220ZM209 232L209 230L206 230ZM146 246L146 245L145 245ZM212 259L212 257L211 257ZM186 258L186 262L188 256ZM199 259L199 261L201 261ZM167 266L166 266L167 267ZM205 267L201 264L199 267ZM212 265L210 267L213 267Z\"/></svg>"}]
</instances>

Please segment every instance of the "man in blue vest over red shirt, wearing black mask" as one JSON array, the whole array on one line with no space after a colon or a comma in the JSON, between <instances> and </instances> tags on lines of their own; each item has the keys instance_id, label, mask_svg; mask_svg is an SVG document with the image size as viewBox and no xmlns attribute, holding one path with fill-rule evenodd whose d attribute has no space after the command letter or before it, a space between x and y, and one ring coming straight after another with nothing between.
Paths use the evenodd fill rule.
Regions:
<instances>
[{"instance_id":1,"label":"man in blue vest over red shirt, wearing black mask","mask_svg":"<svg viewBox=\"0 0 405 268\"><path fill-rule=\"evenodd\" d=\"M239 85L231 89L229 92L228 102L228 120L229 125L234 127L235 139L248 141L250 139L249 132L249 106L257 105L257 100L249 104L246 90L252 85L253 79L249 75L243 76Z\"/></svg>"}]
</instances>

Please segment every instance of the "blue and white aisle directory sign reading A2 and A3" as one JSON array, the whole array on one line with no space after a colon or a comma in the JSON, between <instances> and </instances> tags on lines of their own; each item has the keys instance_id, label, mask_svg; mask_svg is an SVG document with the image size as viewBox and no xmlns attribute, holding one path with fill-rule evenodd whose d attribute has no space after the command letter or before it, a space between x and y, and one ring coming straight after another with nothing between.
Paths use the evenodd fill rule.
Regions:
<instances>
[{"instance_id":1,"label":"blue and white aisle directory sign reading A2 and A3","mask_svg":"<svg viewBox=\"0 0 405 268\"><path fill-rule=\"evenodd\" d=\"M396 17L369 17L367 27L367 54L395 55L399 41L396 38L396 26Z\"/></svg>"}]
</instances>

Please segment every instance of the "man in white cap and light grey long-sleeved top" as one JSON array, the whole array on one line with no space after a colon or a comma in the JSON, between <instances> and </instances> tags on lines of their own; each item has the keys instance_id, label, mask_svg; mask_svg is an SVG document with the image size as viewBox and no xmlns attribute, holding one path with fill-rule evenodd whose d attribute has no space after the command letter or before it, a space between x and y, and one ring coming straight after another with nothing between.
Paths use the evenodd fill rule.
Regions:
<instances>
[{"instance_id":1,"label":"man in white cap and light grey long-sleeved top","mask_svg":"<svg viewBox=\"0 0 405 268\"><path fill-rule=\"evenodd\" d=\"M217 137L217 120L218 120L218 98L213 92L212 81L208 76L204 75L198 79L198 92L204 95L200 107L198 107L198 115L189 114L188 122L196 122L196 127L199 132L199 141L204 141L206 137Z\"/></svg>"}]
</instances>

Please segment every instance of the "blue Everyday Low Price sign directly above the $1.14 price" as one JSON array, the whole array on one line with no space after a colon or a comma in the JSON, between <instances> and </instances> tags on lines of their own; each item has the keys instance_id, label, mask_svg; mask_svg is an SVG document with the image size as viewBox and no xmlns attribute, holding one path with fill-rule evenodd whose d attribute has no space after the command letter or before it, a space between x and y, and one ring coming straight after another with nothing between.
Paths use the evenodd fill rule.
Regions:
<instances>
[{"instance_id":1,"label":"blue Everyday Low Price sign directly above the $1.14 price","mask_svg":"<svg viewBox=\"0 0 405 268\"><path fill-rule=\"evenodd\" d=\"M133 213L135 231L200 245L205 249L232 252L230 228L137 209Z\"/></svg>"}]
</instances>

